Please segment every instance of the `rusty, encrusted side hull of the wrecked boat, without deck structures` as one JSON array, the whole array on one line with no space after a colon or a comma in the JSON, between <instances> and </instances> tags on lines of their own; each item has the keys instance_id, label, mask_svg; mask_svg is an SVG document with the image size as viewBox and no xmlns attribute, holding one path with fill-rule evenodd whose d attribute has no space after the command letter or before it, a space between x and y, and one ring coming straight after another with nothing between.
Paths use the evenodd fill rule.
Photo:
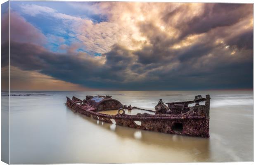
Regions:
<instances>
[{"instance_id":1,"label":"rusty, encrusted side hull of the wrecked boat, without deck structures","mask_svg":"<svg viewBox=\"0 0 256 165\"><path fill-rule=\"evenodd\" d=\"M207 112L207 104L197 106L199 111L193 113L189 111L183 114L137 113L136 115L127 115L124 111L122 113L119 111L116 115L108 115L97 112L95 107L85 104L76 97L66 98L66 106L74 112L92 117L95 120L148 131L209 138L209 109Z\"/></svg>"}]
</instances>

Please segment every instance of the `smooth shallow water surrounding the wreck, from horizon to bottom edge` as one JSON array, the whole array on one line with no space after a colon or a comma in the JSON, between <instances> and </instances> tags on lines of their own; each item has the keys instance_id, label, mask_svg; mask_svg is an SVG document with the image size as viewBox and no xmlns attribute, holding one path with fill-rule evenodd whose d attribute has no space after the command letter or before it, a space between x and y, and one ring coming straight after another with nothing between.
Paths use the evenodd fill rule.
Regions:
<instances>
[{"instance_id":1,"label":"smooth shallow water surrounding the wreck, from horizon to bottom edge","mask_svg":"<svg viewBox=\"0 0 256 165\"><path fill-rule=\"evenodd\" d=\"M209 139L103 123L63 104L66 96L112 95L154 110L159 99L198 94L211 95ZM11 164L253 161L252 91L12 92L10 104Z\"/></svg>"}]
</instances>

